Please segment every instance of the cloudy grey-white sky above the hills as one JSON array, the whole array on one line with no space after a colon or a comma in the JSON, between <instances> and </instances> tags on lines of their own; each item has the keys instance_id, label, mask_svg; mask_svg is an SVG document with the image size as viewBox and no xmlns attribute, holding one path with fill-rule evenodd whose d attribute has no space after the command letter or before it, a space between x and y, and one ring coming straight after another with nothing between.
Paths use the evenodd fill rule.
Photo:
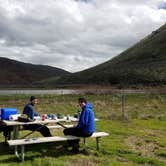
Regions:
<instances>
[{"instance_id":1,"label":"cloudy grey-white sky above the hills","mask_svg":"<svg viewBox=\"0 0 166 166\"><path fill-rule=\"evenodd\" d=\"M166 0L0 0L0 56L76 72L166 22Z\"/></svg>"}]
</instances>

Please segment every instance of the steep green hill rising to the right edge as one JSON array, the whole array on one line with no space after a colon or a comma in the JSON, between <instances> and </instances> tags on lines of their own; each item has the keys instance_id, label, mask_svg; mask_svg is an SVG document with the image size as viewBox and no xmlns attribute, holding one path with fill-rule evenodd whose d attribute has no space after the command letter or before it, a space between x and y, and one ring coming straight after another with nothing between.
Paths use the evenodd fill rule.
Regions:
<instances>
[{"instance_id":1,"label":"steep green hill rising to the right edge","mask_svg":"<svg viewBox=\"0 0 166 166\"><path fill-rule=\"evenodd\" d=\"M102 55L101 55L102 56ZM154 86L166 84L166 24L115 58L62 77L58 84Z\"/></svg>"}]
</instances>

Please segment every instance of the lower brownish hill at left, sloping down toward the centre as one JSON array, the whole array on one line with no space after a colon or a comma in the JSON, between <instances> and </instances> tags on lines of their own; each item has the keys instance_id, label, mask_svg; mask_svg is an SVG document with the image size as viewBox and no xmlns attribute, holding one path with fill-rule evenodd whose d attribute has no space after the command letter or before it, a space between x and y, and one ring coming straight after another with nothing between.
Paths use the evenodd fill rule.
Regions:
<instances>
[{"instance_id":1,"label":"lower brownish hill at left, sloping down toward the centre","mask_svg":"<svg viewBox=\"0 0 166 166\"><path fill-rule=\"evenodd\" d=\"M41 86L40 81L58 78L69 72L45 65L23 63L0 57L0 87Z\"/></svg>"}]
</instances>

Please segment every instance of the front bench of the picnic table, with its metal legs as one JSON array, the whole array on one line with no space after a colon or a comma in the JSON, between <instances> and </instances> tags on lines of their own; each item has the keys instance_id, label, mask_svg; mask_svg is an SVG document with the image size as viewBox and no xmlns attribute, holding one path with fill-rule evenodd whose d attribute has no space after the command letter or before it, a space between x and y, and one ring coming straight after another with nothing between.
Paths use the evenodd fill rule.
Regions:
<instances>
[{"instance_id":1,"label":"front bench of the picnic table, with its metal legs","mask_svg":"<svg viewBox=\"0 0 166 166\"><path fill-rule=\"evenodd\" d=\"M30 139L16 139L9 140L9 146L14 146L14 153L21 161L24 161L25 156L25 145L30 144L39 144L39 143L48 143L48 142L60 142L60 141L68 141L68 140L76 140L76 139L84 139L84 145L86 146L87 138L96 138L96 149L99 150L99 139L104 136L108 136L109 134L106 132L95 132L91 137L76 137L76 136L53 136L53 137L38 137L38 138L30 138ZM18 146L21 147L20 153L18 152Z\"/></svg>"}]
</instances>

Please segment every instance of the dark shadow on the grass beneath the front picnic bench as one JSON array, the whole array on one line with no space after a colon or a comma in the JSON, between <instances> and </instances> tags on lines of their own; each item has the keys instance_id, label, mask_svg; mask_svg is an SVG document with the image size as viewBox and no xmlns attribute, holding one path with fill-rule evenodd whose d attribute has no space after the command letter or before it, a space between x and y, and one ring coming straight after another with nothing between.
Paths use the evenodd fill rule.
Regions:
<instances>
[{"instance_id":1,"label":"dark shadow on the grass beneath the front picnic bench","mask_svg":"<svg viewBox=\"0 0 166 166\"><path fill-rule=\"evenodd\" d=\"M62 146L64 145L65 148ZM62 147L62 148L58 148ZM20 150L20 148L19 148ZM39 157L62 157L62 156L71 156L71 155L94 155L99 156L100 154L104 154L106 152L96 151L96 149L86 148L81 149L79 152L72 152L71 148L66 148L66 144L64 143L45 143L45 144L34 144L25 146L25 161L32 161L33 159ZM12 163L12 162L20 162L20 160L14 154L14 147L9 147L4 143L0 143L0 155L6 155L3 159L0 158L0 163Z\"/></svg>"}]
</instances>

